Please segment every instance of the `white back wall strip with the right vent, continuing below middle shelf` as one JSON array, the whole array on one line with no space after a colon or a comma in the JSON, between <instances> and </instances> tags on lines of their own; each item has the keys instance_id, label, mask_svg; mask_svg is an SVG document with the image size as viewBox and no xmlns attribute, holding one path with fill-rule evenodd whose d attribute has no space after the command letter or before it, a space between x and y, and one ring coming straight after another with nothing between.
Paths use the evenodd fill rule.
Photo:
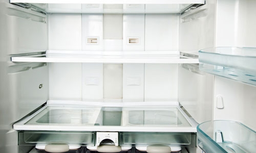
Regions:
<instances>
[{"instance_id":1,"label":"white back wall strip with the right vent, continuing below middle shelf","mask_svg":"<svg viewBox=\"0 0 256 153\"><path fill-rule=\"evenodd\" d=\"M144 14L124 14L123 50L144 52L144 31ZM123 101L144 101L144 64L123 64Z\"/></svg>"}]
</instances>

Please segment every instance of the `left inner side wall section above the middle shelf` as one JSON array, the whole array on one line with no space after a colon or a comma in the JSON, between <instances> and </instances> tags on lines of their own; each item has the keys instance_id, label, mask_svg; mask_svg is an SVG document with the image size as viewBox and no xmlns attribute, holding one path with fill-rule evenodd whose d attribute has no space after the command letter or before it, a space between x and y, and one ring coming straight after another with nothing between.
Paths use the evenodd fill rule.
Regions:
<instances>
[{"instance_id":1,"label":"left inner side wall section above the middle shelf","mask_svg":"<svg viewBox=\"0 0 256 153\"><path fill-rule=\"evenodd\" d=\"M47 49L46 16L11 4L1 4L1 35L8 54L44 52ZM2 42L1 42L2 43Z\"/></svg>"}]
</instances>

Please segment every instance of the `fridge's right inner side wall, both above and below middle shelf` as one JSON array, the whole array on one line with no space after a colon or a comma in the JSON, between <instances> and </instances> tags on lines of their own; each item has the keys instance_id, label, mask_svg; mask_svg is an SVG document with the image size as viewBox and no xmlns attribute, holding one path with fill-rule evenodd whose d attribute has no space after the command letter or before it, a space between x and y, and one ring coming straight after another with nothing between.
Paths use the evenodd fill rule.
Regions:
<instances>
[{"instance_id":1,"label":"fridge's right inner side wall, both above and below middle shelf","mask_svg":"<svg viewBox=\"0 0 256 153\"><path fill-rule=\"evenodd\" d=\"M198 50L214 46L216 1L206 1L191 11L180 18L179 48L180 52L198 54ZM213 77L192 71L179 67L179 101L201 123L212 119Z\"/></svg>"}]
</instances>

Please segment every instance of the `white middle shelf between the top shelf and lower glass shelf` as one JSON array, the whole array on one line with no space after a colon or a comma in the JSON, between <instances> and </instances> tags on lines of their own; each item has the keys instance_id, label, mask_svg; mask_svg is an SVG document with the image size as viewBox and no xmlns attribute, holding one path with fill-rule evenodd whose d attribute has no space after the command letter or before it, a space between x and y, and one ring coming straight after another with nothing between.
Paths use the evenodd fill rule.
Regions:
<instances>
[{"instance_id":1,"label":"white middle shelf between the top shelf and lower glass shelf","mask_svg":"<svg viewBox=\"0 0 256 153\"><path fill-rule=\"evenodd\" d=\"M66 63L199 63L196 57L178 51L82 51L47 50L46 54L11 57L12 62Z\"/></svg>"}]
</instances>

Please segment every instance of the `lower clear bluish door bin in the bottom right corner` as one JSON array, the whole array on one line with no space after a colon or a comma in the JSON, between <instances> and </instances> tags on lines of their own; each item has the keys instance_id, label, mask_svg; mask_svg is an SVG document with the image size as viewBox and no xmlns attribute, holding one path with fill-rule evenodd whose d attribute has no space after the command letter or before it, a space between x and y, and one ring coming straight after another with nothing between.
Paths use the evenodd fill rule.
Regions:
<instances>
[{"instance_id":1,"label":"lower clear bluish door bin in the bottom right corner","mask_svg":"<svg viewBox=\"0 0 256 153\"><path fill-rule=\"evenodd\" d=\"M207 152L255 152L256 133L234 121L207 121L197 126L198 145Z\"/></svg>"}]
</instances>

